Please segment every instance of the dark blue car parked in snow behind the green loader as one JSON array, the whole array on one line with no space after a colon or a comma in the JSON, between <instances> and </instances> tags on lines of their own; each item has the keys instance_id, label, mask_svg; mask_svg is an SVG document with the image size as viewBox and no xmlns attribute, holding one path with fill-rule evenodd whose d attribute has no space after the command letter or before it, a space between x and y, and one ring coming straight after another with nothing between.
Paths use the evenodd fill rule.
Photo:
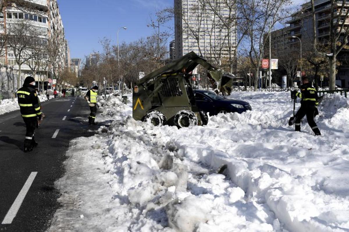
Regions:
<instances>
[{"instance_id":1,"label":"dark blue car parked in snow behind the green loader","mask_svg":"<svg viewBox=\"0 0 349 232\"><path fill-rule=\"evenodd\" d=\"M196 106L198 106L200 111L209 113L210 116L217 115L218 113L242 113L252 110L248 102L218 96L212 91L197 89L193 92Z\"/></svg>"}]
</instances>

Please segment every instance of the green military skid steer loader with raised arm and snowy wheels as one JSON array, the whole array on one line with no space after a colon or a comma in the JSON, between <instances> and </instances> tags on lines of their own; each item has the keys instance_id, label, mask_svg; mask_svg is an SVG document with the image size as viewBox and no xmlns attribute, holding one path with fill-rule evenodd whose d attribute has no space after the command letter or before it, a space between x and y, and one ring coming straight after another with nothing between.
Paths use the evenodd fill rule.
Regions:
<instances>
[{"instance_id":1,"label":"green military skid steer loader with raised arm and snowy wheels","mask_svg":"<svg viewBox=\"0 0 349 232\"><path fill-rule=\"evenodd\" d=\"M199 64L207 69L215 92L229 95L234 76L192 51L133 83L133 118L155 126L206 125L207 113L195 105L191 81Z\"/></svg>"}]
</instances>

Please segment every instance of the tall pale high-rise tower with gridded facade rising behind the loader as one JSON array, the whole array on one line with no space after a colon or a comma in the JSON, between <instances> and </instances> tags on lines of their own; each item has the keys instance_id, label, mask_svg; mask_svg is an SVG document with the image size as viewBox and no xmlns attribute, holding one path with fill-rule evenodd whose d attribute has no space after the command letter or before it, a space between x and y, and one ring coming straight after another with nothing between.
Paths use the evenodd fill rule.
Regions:
<instances>
[{"instance_id":1,"label":"tall pale high-rise tower with gridded facade rising behind the loader","mask_svg":"<svg viewBox=\"0 0 349 232\"><path fill-rule=\"evenodd\" d=\"M220 12L221 18L224 18L229 15L226 4L233 4L233 0L231 2L230 0L212 0L212 3L216 5L216 12ZM227 28L219 26L222 25L220 17L217 17L208 6L203 8L197 0L174 0L174 12L176 58L191 51L198 55L202 54L205 58L227 58L229 57L229 40L231 47L235 49L235 25L232 25L229 35ZM232 13L235 14L235 12ZM199 42L193 34L200 38Z\"/></svg>"}]
</instances>

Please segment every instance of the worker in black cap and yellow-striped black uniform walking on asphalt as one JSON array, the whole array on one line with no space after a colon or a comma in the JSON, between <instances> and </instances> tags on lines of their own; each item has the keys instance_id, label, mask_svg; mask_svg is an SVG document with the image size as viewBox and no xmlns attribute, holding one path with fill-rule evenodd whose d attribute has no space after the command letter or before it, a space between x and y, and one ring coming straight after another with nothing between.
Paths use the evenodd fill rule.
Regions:
<instances>
[{"instance_id":1,"label":"worker in black cap and yellow-striped black uniform walking on asphalt","mask_svg":"<svg viewBox=\"0 0 349 232\"><path fill-rule=\"evenodd\" d=\"M33 77L25 78L23 87L17 91L17 97L22 118L27 127L24 139L24 152L29 152L38 145L34 139L34 130L37 119L40 120L42 117Z\"/></svg>"}]
</instances>

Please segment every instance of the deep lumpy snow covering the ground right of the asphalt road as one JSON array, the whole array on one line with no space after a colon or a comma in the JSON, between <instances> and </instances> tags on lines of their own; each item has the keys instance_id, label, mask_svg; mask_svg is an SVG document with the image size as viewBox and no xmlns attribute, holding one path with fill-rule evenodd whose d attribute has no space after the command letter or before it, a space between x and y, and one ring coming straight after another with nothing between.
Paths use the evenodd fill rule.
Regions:
<instances>
[{"instance_id":1,"label":"deep lumpy snow covering the ground right of the asphalt road","mask_svg":"<svg viewBox=\"0 0 349 232\"><path fill-rule=\"evenodd\" d=\"M229 97L252 111L181 129L99 101L109 125L71 141L49 231L348 231L348 99L324 97L314 136L288 126L289 93Z\"/></svg>"}]
</instances>

